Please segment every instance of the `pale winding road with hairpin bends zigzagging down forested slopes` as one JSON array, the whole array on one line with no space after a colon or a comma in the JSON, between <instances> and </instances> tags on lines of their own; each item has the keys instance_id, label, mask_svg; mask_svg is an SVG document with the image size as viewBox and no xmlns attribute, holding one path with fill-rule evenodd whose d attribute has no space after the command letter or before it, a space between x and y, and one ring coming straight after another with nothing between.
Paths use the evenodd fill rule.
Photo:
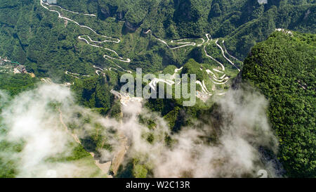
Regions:
<instances>
[{"instance_id":1,"label":"pale winding road with hairpin bends zigzagging down forested slopes","mask_svg":"<svg viewBox=\"0 0 316 192\"><path fill-rule=\"evenodd\" d=\"M80 14L80 13L74 12L74 11L69 11L69 10L67 10L67 9L65 9L65 8L62 8L62 7L60 7L60 6L57 6L57 5L52 5L52 4L45 3L43 0L40 0L40 3L41 3L41 6L44 7L46 10L52 11L52 12L55 12L55 13L58 13L58 18L61 18L61 19L63 19L63 20L70 21L70 22L72 22L72 23L78 25L79 27L83 27L83 28L86 28L86 29L90 30L91 32L93 32L94 34L96 34L96 35L99 36L99 37L105 38L104 41L95 41L95 40L91 39L91 37L89 37L88 35L80 35L80 36L78 37L78 39L80 39L80 40L82 40L82 41L85 41L86 44L88 44L88 45L90 45L90 46L93 46L93 47L96 47L96 48L105 49L105 51L110 51L110 52L111 52L112 54L114 54L114 56L115 56L115 57L113 57L113 56L109 56L109 55L107 55L107 54L104 54L104 55L103 55L103 58L105 58L105 59L107 59L107 60L118 60L118 61L124 62L124 63L130 63L130 62L131 62L131 59L130 59L130 58L122 58L121 56L119 56L119 54L118 54L116 51L114 51L114 50L112 50L112 49L109 49L109 48L107 48L107 47L105 47L105 46L99 46L99 45L98 45L98 44L103 44L103 43L105 43L105 42L112 42L112 43L115 43L115 44L119 44L119 43L120 43L120 39L117 39L117 38L114 38L114 37L107 37L107 36L105 36L105 35L98 34L98 33L97 33L95 30L93 30L91 27L88 27L88 26L86 26L86 25L80 25L77 21L72 20L72 19L67 18L67 17L64 17L64 16L62 16L62 14L61 14L59 11L55 11L55 10L50 9L50 8L48 8L48 7L57 7L57 8L60 8L61 10L63 10L63 11L67 11L67 12L74 13L74 14ZM94 14L85 14L85 13L83 13L83 15L88 15L88 16L96 17L96 15L94 15ZM210 55L207 53L207 51L206 51L206 46L209 44L209 41L215 41L216 46L218 46L218 48L219 48L220 51L222 52L222 55L223 55L223 57L225 58L225 60L228 60L228 62L229 62L231 65L233 65L233 66L235 66L235 68L237 68L237 66L235 65L235 63L233 63L232 60L230 60L227 56L225 56L225 53L227 53L228 56L230 56L231 58L234 58L235 60L238 60L238 59L235 58L234 56L231 56L230 53L228 53L228 51L227 51L226 48L225 48L224 41L223 41L223 47L224 47L224 48L223 48L222 46L220 46L220 45L218 44L218 39L216 39L216 40L211 39L211 35L210 35L210 34L205 34L205 36L206 36L206 41L205 41L204 38L198 38L198 39L201 39L201 40L202 40L202 42L200 42L199 44L197 44L196 42L190 41L190 39L171 40L171 41L170 41L171 44L176 44L176 45L178 45L178 46L174 46L174 47L173 47L173 46L170 46L165 40L159 39L159 38L156 37L154 34L152 34L152 31L151 31L151 30L147 30L147 32L145 32L145 34L148 34L148 33L150 33L155 39L157 39L158 41L162 42L162 44L165 44L169 49L172 49L172 50L174 50L174 49L180 49L180 48L183 48L183 47L185 47L185 46L203 46L205 56L208 57L208 58L211 58L211 60L214 60L216 63L218 63L218 65L220 65L220 70L218 70L218 68L213 68L212 70L213 70L214 72L217 72L217 73L223 73L223 76L218 77L218 76L216 75L216 73L214 73L212 70L209 70L209 69L206 70L206 73L209 75L209 79L211 80L211 82L213 82L213 84L225 84L225 83L228 82L228 80L229 80L230 78L229 78L229 77L225 77L225 76L226 76L226 75L225 75L225 66L223 65L223 63L220 63L218 60L216 60L215 58L213 58L212 56L210 56ZM195 40L196 40L196 39L195 39ZM115 65L117 65L117 64L115 63ZM121 68L120 65L117 65L117 67L118 67L119 69L117 69L117 68L103 69L103 68L100 68L100 67L98 67L98 66L96 66L96 65L93 65L93 68L96 68L96 74L97 74L97 75L100 75L100 72L103 72L103 70L111 70L111 69L118 70L118 71L122 70L122 71L124 71L124 72L129 72L129 73L131 73L130 70L124 70L124 68ZM156 79L153 79L153 80L150 82L150 87L152 87L152 89L154 89L154 87L157 86L157 83L158 83L158 82L164 82L164 83L169 84L169 85L174 84L173 79L175 78L176 73L177 73L179 70L181 70L181 69L182 69L182 68L176 69L176 70L175 70L175 73L173 74L173 76L171 77L171 79L157 79L157 78L156 78ZM237 70L240 72L239 68L237 68ZM67 71L66 71L65 73L66 73L67 75L71 75L71 76L74 77L74 78L79 78L79 77L77 77L79 74L74 74L74 73L70 73L70 72L67 72ZM103 73L103 75L105 75L105 74ZM203 80L202 82L197 81L196 83L199 84L199 86L202 87L202 92L203 92L204 94L211 95L211 92L206 89L206 86L205 86L205 84L204 84L204 80Z\"/></svg>"}]
</instances>

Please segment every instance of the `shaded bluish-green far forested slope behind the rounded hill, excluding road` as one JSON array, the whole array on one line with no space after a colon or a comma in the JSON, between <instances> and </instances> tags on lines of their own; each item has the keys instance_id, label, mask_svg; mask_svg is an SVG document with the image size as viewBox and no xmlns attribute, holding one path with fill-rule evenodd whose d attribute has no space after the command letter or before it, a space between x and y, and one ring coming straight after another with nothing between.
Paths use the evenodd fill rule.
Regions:
<instances>
[{"instance_id":1,"label":"shaded bluish-green far forested slope behind the rounded hill, excluding road","mask_svg":"<svg viewBox=\"0 0 316 192\"><path fill-rule=\"evenodd\" d=\"M91 32L70 20L58 18L58 13L47 11L40 1L1 0L0 3L0 55L26 65L35 75L58 79L62 76L61 80L67 81L69 75L65 75L65 71L93 75L93 65L103 68L116 65L113 60L102 57L105 53L111 56L113 52L95 49L78 39L83 34L93 38ZM228 52L242 60L251 46L266 39L275 28L312 33L316 28L315 1L259 4L253 0L58 0L57 5L64 9L51 9L91 27L98 34L119 38L119 44L106 42L102 46L131 59L130 63L119 62L122 68L141 67L147 72L163 70L167 65L180 67L189 58L199 63L205 60L202 46L170 50L157 38L169 43L170 39L189 37L206 40L205 35L210 34L210 37L225 39ZM103 41L105 37L96 39Z\"/></svg>"}]
</instances>

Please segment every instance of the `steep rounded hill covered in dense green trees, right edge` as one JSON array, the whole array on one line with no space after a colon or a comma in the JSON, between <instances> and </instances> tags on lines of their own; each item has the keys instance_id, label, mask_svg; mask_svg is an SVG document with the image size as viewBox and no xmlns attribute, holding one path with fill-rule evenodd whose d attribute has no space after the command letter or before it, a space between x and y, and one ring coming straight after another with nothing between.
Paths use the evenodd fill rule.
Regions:
<instances>
[{"instance_id":1,"label":"steep rounded hill covered in dense green trees, right edge","mask_svg":"<svg viewBox=\"0 0 316 192\"><path fill-rule=\"evenodd\" d=\"M316 174L315 38L315 34L273 33L251 49L241 76L269 98L279 159L291 177Z\"/></svg>"}]
</instances>

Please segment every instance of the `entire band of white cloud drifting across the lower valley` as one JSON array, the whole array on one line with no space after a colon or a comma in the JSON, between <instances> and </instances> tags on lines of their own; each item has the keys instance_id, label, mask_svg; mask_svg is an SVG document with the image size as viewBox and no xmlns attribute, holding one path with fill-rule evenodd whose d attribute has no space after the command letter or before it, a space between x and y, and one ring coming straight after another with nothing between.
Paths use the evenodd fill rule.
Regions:
<instances>
[{"instance_id":1,"label":"entire band of white cloud drifting across the lower valley","mask_svg":"<svg viewBox=\"0 0 316 192\"><path fill-rule=\"evenodd\" d=\"M6 96L0 95L1 103ZM182 127L173 134L162 117L140 103L123 107L123 120L117 121L77 105L65 87L41 85L16 96L3 108L2 124L8 132L1 140L24 145L20 152L3 151L0 155L17 160L17 177L88 177L84 174L86 166L47 159L73 150L69 143L75 142L74 137L62 122L72 127L73 134L80 139L95 131L99 124L104 129L98 134L112 146L111 152L99 151L101 162L113 160L124 147L123 165L138 158L152 170L152 177L257 177L260 169L275 177L273 167L264 165L258 152L260 146L277 151L277 141L265 115L268 101L254 91L230 90L217 99L216 105L220 120L210 114L206 117L208 121ZM140 124L139 114L154 120L156 127L148 129ZM144 136L147 134L154 136L152 143ZM166 146L166 135L174 141L171 147ZM124 139L126 143L122 142Z\"/></svg>"}]
</instances>

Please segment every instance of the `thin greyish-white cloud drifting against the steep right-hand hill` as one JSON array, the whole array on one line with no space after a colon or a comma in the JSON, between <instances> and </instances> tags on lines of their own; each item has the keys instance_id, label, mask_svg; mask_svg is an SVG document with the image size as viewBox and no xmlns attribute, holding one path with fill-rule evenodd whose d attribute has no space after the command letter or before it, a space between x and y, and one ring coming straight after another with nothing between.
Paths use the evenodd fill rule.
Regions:
<instances>
[{"instance_id":1,"label":"thin greyish-white cloud drifting against the steep right-hand hill","mask_svg":"<svg viewBox=\"0 0 316 192\"><path fill-rule=\"evenodd\" d=\"M148 145L137 133L139 126L133 126L131 153L147 154L147 163L152 164L154 177L257 177L261 169L267 169L275 177L272 167L261 162L259 146L277 151L277 141L270 129L265 110L268 101L256 92L230 90L216 101L222 123L218 127L199 124L183 127L173 134L176 141L171 148L161 143ZM152 132L168 131L166 125ZM135 134L137 133L137 134ZM217 133L217 140L205 139Z\"/></svg>"}]
</instances>

